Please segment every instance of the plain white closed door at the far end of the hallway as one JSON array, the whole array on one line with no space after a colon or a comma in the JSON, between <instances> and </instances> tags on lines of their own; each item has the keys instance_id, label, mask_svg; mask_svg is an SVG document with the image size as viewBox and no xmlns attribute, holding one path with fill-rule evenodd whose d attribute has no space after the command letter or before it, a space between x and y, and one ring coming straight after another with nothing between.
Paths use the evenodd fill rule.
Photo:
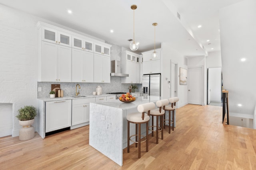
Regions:
<instances>
[{"instance_id":1,"label":"plain white closed door at the far end of the hallway","mask_svg":"<svg viewBox=\"0 0 256 170\"><path fill-rule=\"evenodd\" d=\"M188 103L202 105L203 74L202 67L188 68Z\"/></svg>"}]
</instances>

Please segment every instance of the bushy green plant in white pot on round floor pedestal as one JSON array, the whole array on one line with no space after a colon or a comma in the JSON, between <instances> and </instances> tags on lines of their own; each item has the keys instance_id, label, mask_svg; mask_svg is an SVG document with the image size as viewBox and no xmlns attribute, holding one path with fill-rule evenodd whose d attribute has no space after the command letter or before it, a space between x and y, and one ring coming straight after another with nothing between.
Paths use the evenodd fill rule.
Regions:
<instances>
[{"instance_id":1,"label":"bushy green plant in white pot on round floor pedestal","mask_svg":"<svg viewBox=\"0 0 256 170\"><path fill-rule=\"evenodd\" d=\"M19 131L19 138L21 141L31 139L35 136L35 129L31 126L34 123L37 109L34 106L24 106L18 109L19 123L22 128Z\"/></svg>"}]
</instances>

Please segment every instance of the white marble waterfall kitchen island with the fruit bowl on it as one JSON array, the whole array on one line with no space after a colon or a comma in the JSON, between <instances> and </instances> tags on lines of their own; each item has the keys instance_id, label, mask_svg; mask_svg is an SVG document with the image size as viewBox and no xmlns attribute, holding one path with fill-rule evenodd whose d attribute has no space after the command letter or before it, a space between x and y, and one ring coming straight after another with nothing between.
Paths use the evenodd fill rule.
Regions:
<instances>
[{"instance_id":1,"label":"white marble waterfall kitchen island with the fruit bowl on it","mask_svg":"<svg viewBox=\"0 0 256 170\"><path fill-rule=\"evenodd\" d=\"M122 166L123 149L127 147L126 115L138 112L137 107L140 104L156 103L161 99L162 97L159 96L141 96L131 103L119 100L90 103L89 145ZM130 125L130 135L135 134L135 125ZM145 126L142 125L144 134L146 133Z\"/></svg>"}]
</instances>

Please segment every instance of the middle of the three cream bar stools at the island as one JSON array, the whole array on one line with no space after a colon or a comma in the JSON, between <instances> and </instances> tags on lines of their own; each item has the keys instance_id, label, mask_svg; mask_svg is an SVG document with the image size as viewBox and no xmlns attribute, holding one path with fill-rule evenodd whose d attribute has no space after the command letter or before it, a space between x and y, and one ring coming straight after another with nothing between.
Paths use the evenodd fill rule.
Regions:
<instances>
[{"instance_id":1,"label":"middle of the three cream bar stools at the island","mask_svg":"<svg viewBox=\"0 0 256 170\"><path fill-rule=\"evenodd\" d=\"M158 108L153 109L150 111L150 116L151 120L152 120L152 126L150 126L152 129L150 129L150 127L148 127L148 130L152 131L152 137L154 136L154 132L156 132L156 143L158 144L158 132L161 131L162 132L162 136L161 139L164 139L164 131L163 131L163 125L164 125L164 109L165 106L169 104L169 100L168 99L164 99L164 100L158 100L156 102L156 106L158 106ZM163 109L162 109L163 108ZM154 116L156 116L156 126L154 126ZM160 117L160 127L158 126L158 118ZM154 130L154 127L156 127L156 130Z\"/></svg>"}]
</instances>

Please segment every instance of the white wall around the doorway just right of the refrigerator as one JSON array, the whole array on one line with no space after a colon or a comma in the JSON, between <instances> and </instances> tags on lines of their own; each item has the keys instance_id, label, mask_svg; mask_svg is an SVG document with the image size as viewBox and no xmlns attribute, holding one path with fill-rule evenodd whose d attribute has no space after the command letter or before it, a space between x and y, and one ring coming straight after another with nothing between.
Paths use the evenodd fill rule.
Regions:
<instances>
[{"instance_id":1,"label":"white wall around the doorway just right of the refrigerator","mask_svg":"<svg viewBox=\"0 0 256 170\"><path fill-rule=\"evenodd\" d=\"M170 88L168 88L168 80L170 80L170 65L171 61L178 63L178 75L180 75L180 67L188 69L184 65L184 57L171 48L172 46L168 43L161 44L161 76L162 76L162 96L164 98L170 97ZM166 80L168 78L168 80ZM186 85L180 85L180 79L178 77L178 107L182 107L188 104L188 88Z\"/></svg>"}]
</instances>

